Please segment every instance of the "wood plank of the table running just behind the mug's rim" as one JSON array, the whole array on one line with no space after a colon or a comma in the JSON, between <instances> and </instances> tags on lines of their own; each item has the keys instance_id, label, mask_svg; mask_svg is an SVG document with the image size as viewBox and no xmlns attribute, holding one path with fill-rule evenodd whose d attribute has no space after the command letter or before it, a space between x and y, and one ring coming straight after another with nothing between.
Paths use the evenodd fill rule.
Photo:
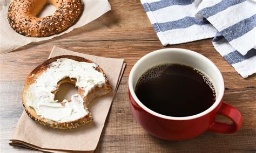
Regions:
<instances>
[{"instance_id":1,"label":"wood plank of the table running just behind the mug's rim","mask_svg":"<svg viewBox=\"0 0 256 153\"><path fill-rule=\"evenodd\" d=\"M124 58L127 63L124 76L128 76L132 66L143 55L155 50L164 48L159 41L64 41L58 43L48 42L47 44L29 44L16 52L0 55L0 80L2 81L22 81L26 75L37 65L46 60L52 47L56 45L71 51L93 54L110 58ZM235 72L219 53L214 51L212 40L201 40L193 43L172 45L170 47L187 48L205 55L218 66L222 73L234 72L231 79L235 77L242 82L244 79ZM17 73L18 72L18 73ZM225 78L226 79L226 78ZM255 80L250 77L247 80ZM233 80L233 79L232 79Z\"/></svg>"}]
</instances>

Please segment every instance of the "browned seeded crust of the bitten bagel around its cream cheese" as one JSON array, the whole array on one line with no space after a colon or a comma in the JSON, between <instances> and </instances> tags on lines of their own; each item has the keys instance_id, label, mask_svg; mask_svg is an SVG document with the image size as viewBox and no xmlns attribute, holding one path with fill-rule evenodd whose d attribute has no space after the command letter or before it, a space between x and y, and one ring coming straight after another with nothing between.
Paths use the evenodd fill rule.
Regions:
<instances>
[{"instance_id":1,"label":"browned seeded crust of the bitten bagel around its cream cheese","mask_svg":"<svg viewBox=\"0 0 256 153\"><path fill-rule=\"evenodd\" d=\"M60 58L68 58L68 59L72 59L72 60L76 60L76 61L80 61L80 62L89 62L92 63L93 61L91 60L87 60L85 58L82 57L77 57L77 56L73 56L73 55L61 55L58 57L54 57L54 58L50 58L46 61L44 61L41 65L37 66L35 69L33 69L32 72L29 73L29 75L26 77L25 82L24 82L24 88L22 91L22 101L23 101L23 106L24 109L26 111L26 113L28 114L28 116L44 125L44 126L48 126L51 128L57 128L57 129L72 129L72 128L77 128L79 126L82 126L90 121L93 120L91 113L88 112L87 115L81 117L78 120L75 121L69 121L69 122L56 122L56 121L52 121L52 120L48 120L45 118L42 118L41 116L38 116L35 109L29 107L27 105L27 99L26 99L26 93L29 92L29 86L32 85L36 79L44 72L46 71L46 69L49 67L49 64L51 64L51 62L56 61L57 59ZM100 73L103 73L104 77L105 77L105 85L103 87L96 87L94 89L92 89L91 92L89 92L84 98L84 107L87 110L87 105L89 105L89 103L91 101L93 101L95 98L99 97L99 96L103 96L107 93L109 93L111 91L111 86L109 85L109 82L106 78L106 75L104 73L104 71L98 66L96 67L96 70ZM64 82L72 82L75 83L76 79L72 79L72 78L64 78L63 80L60 80L58 82L58 86L57 86L57 90L52 92L53 94L56 94L56 92L58 91L58 88L60 86L60 84L64 83ZM78 87L78 94L83 95L83 90L79 89Z\"/></svg>"}]
</instances>

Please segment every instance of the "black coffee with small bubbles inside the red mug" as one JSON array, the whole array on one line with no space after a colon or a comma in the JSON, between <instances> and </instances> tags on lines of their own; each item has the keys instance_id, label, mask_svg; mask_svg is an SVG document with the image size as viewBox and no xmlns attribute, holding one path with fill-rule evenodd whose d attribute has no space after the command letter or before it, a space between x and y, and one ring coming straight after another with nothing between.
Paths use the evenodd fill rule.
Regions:
<instances>
[{"instance_id":1,"label":"black coffee with small bubbles inside the red mug","mask_svg":"<svg viewBox=\"0 0 256 153\"><path fill-rule=\"evenodd\" d=\"M179 64L150 68L139 78L135 93L147 108L175 117L204 112L215 101L210 79L196 68Z\"/></svg>"}]
</instances>

